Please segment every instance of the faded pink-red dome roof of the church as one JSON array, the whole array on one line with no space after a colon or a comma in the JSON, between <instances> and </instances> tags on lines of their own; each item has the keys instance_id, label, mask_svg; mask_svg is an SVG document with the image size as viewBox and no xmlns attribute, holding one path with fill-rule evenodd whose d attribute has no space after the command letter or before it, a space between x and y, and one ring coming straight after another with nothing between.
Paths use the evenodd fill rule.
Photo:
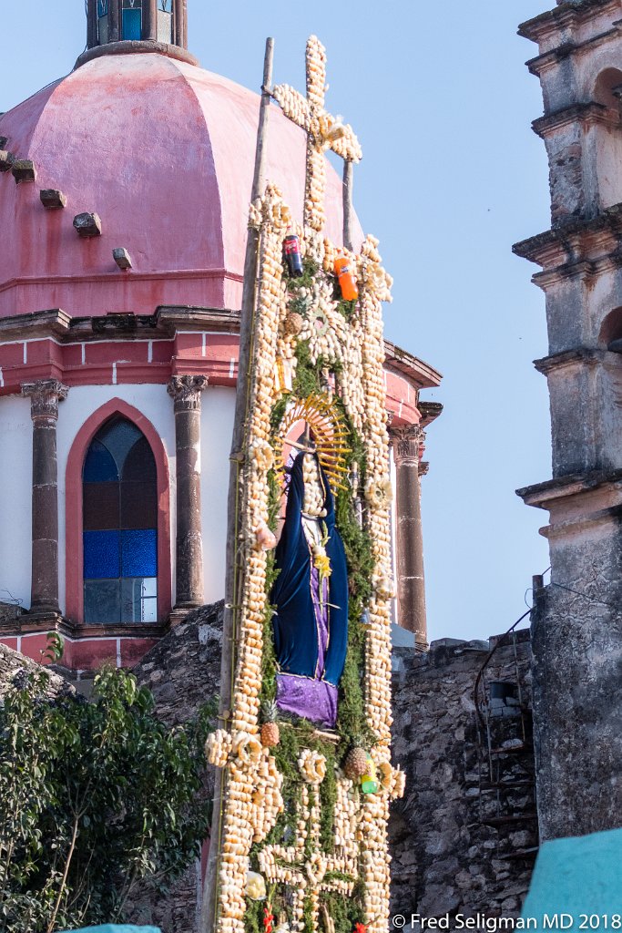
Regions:
<instances>
[{"instance_id":1,"label":"faded pink-red dome roof of the church","mask_svg":"<svg viewBox=\"0 0 622 933\"><path fill-rule=\"evenodd\" d=\"M257 94L156 53L104 55L0 117L35 184L0 174L0 317L239 308L255 161ZM306 140L270 110L268 171L302 214ZM67 197L46 210L41 188ZM100 237L73 218L94 212ZM341 183L327 172L326 232L341 243ZM360 230L357 230L360 234ZM133 269L112 258L124 246Z\"/></svg>"}]
</instances>

